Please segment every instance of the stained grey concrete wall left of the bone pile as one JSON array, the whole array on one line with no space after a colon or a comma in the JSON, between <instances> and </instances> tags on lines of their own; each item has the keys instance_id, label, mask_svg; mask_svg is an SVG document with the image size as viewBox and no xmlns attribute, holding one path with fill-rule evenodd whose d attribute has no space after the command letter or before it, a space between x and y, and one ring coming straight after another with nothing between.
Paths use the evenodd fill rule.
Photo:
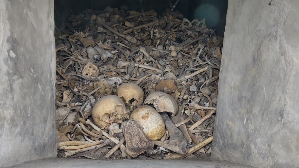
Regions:
<instances>
[{"instance_id":1,"label":"stained grey concrete wall left of the bone pile","mask_svg":"<svg viewBox=\"0 0 299 168\"><path fill-rule=\"evenodd\" d=\"M0 167L55 157L54 0L0 1Z\"/></svg>"}]
</instances>

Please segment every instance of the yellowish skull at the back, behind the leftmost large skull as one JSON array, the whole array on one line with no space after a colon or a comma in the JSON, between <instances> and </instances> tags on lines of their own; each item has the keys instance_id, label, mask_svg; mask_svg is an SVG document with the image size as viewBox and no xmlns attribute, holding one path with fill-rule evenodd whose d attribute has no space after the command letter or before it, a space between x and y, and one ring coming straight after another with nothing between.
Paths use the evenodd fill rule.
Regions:
<instances>
[{"instance_id":1,"label":"yellowish skull at the back, behind the leftmost large skull","mask_svg":"<svg viewBox=\"0 0 299 168\"><path fill-rule=\"evenodd\" d=\"M134 106L141 106L143 103L143 90L134 83L124 83L120 85L116 89L116 95L130 106L130 110L132 110ZM131 102L131 100L134 101Z\"/></svg>"}]
</instances>

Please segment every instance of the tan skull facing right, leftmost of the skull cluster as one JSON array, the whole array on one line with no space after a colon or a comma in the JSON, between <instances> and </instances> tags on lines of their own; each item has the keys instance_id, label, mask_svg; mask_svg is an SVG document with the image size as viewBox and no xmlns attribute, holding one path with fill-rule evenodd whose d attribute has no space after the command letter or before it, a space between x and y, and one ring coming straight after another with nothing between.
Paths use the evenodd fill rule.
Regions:
<instances>
[{"instance_id":1,"label":"tan skull facing right, leftmost of the skull cluster","mask_svg":"<svg viewBox=\"0 0 299 168\"><path fill-rule=\"evenodd\" d=\"M93 106L91 116L97 126L107 129L112 123L122 123L129 118L129 110L115 95L101 97Z\"/></svg>"}]
</instances>

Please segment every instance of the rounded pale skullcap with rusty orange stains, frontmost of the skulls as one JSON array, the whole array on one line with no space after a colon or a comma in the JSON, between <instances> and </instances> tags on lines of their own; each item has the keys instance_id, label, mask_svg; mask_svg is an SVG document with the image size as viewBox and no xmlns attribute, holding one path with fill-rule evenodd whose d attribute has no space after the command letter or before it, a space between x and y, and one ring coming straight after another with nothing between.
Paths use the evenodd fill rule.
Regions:
<instances>
[{"instance_id":1,"label":"rounded pale skullcap with rusty orange stains, frontmost of the skulls","mask_svg":"<svg viewBox=\"0 0 299 168\"><path fill-rule=\"evenodd\" d=\"M145 135L151 140L158 140L165 133L163 118L151 106L138 107L132 112L130 119L138 121Z\"/></svg>"}]
</instances>

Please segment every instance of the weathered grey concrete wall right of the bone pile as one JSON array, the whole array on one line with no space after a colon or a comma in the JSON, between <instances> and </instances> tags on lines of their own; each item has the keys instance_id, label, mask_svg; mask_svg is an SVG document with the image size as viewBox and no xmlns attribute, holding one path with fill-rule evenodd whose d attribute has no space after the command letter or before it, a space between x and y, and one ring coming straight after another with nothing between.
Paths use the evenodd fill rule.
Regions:
<instances>
[{"instance_id":1,"label":"weathered grey concrete wall right of the bone pile","mask_svg":"<svg viewBox=\"0 0 299 168\"><path fill-rule=\"evenodd\" d=\"M298 0L229 0L213 158L299 167L298 18Z\"/></svg>"}]
</instances>

